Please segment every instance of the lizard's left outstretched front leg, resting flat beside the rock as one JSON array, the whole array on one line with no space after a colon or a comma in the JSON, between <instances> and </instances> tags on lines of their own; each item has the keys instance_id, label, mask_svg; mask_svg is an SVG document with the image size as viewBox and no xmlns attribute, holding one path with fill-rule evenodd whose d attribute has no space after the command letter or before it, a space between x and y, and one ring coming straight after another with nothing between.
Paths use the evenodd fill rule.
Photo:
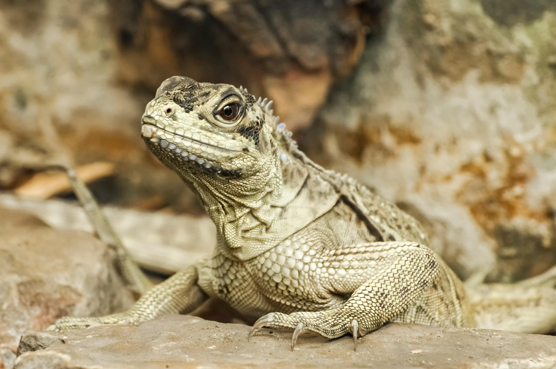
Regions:
<instances>
[{"instance_id":1,"label":"lizard's left outstretched front leg, resting flat beside the rock","mask_svg":"<svg viewBox=\"0 0 556 369\"><path fill-rule=\"evenodd\" d=\"M197 267L190 266L147 291L128 311L103 317L63 317L48 330L63 332L99 325L138 325L165 314L186 314L207 299L197 280Z\"/></svg>"}]
</instances>

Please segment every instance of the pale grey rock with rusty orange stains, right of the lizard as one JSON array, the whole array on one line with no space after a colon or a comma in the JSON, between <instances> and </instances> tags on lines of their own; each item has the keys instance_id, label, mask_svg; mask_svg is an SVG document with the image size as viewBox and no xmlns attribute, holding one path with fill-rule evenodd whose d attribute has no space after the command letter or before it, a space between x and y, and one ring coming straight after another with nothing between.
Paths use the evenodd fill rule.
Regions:
<instances>
[{"instance_id":1,"label":"pale grey rock with rusty orange stains, right of the lizard","mask_svg":"<svg viewBox=\"0 0 556 369\"><path fill-rule=\"evenodd\" d=\"M556 263L552 2L396 0L304 148L419 218L460 277Z\"/></svg>"}]
</instances>

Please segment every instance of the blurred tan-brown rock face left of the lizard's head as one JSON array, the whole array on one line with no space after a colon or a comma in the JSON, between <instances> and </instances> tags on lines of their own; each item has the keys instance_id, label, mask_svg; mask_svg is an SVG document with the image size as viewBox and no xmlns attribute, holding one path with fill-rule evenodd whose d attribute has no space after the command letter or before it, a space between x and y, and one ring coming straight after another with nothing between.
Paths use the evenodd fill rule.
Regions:
<instances>
[{"instance_id":1,"label":"blurred tan-brown rock face left of the lizard's head","mask_svg":"<svg viewBox=\"0 0 556 369\"><path fill-rule=\"evenodd\" d=\"M142 142L141 114L156 87L120 83L110 14L104 0L0 2L0 188L21 185L52 157L50 121L77 164L115 164L101 201L194 212L191 193Z\"/></svg>"}]
</instances>

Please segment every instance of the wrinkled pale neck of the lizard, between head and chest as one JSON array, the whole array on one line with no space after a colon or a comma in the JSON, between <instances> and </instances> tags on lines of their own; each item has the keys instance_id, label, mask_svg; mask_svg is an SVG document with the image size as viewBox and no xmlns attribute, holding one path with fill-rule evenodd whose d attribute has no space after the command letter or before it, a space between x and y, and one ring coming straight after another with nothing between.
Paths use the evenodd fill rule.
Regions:
<instances>
[{"instance_id":1,"label":"wrinkled pale neck of the lizard, between head and chest","mask_svg":"<svg viewBox=\"0 0 556 369\"><path fill-rule=\"evenodd\" d=\"M234 182L234 186L217 186L205 178L187 181L201 199L207 214L216 225L219 252L229 257L246 260L276 246L272 240L284 237L287 222L303 223L295 219L296 206L292 203L302 193L309 170L299 159L287 154L280 163L261 171L262 186L253 186L249 178ZM231 180L230 180L231 181ZM225 188L226 192L220 189ZM302 200L302 201L306 201ZM294 208L294 213L292 213ZM274 235L270 237L270 235ZM269 243L270 242L270 243ZM279 241L276 241L279 242Z\"/></svg>"}]
</instances>

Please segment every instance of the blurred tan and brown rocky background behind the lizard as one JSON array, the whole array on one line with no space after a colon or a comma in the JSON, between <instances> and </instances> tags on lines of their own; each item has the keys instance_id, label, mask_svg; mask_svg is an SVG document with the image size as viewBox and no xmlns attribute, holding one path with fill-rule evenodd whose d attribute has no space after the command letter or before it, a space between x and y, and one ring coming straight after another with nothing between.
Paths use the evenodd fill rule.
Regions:
<instances>
[{"instance_id":1,"label":"blurred tan and brown rocky background behind the lizard","mask_svg":"<svg viewBox=\"0 0 556 369\"><path fill-rule=\"evenodd\" d=\"M182 251L214 242L140 137L173 75L274 100L302 150L417 217L464 280L556 263L554 1L0 0L0 190L72 200L38 169L61 145L104 205L199 222ZM85 230L69 218L49 224Z\"/></svg>"}]
</instances>

